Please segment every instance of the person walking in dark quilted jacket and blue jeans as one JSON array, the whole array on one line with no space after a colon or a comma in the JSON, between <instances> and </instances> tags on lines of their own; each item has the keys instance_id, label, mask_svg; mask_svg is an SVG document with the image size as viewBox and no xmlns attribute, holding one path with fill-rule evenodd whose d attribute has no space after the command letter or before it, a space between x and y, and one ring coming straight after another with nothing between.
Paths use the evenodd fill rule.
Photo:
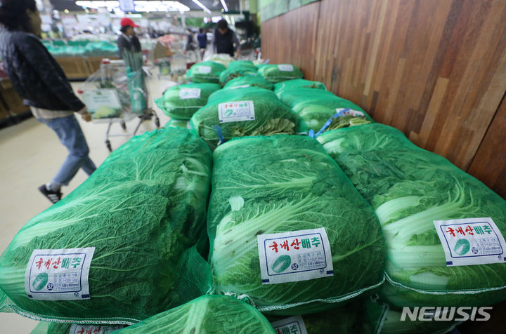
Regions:
<instances>
[{"instance_id":1,"label":"person walking in dark quilted jacket and blue jeans","mask_svg":"<svg viewBox=\"0 0 506 334\"><path fill-rule=\"evenodd\" d=\"M88 175L96 170L74 116L77 113L84 121L91 121L91 115L39 40L41 18L35 0L1 0L0 25L0 57L13 88L69 152L53 180L39 187L51 203L56 203L62 198L61 187L68 185L79 168Z\"/></svg>"}]
</instances>

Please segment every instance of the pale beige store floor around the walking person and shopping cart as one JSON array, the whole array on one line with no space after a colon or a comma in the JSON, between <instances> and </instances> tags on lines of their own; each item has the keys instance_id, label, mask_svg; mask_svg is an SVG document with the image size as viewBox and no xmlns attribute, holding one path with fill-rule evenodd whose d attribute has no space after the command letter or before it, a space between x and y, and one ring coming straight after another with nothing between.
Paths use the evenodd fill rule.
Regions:
<instances>
[{"instance_id":1,"label":"pale beige store floor around the walking person and shopping cart","mask_svg":"<svg viewBox=\"0 0 506 334\"><path fill-rule=\"evenodd\" d=\"M170 81L153 79L148 82L151 100L159 98ZM74 89L79 83L73 83ZM154 103L153 108L160 117L160 125L164 126L169 120ZM78 117L84 135L90 147L91 159L98 166L108 156L105 147L106 124L86 123ZM133 130L137 119L126 124L127 129ZM153 121L145 121L139 128L138 134L155 128ZM115 123L112 132L121 133L122 128ZM126 142L126 137L111 138L112 148L117 148ZM51 203L42 196L37 187L49 182L63 163L67 151L60 144L56 134L36 119L28 119L22 123L0 130L0 248L3 251L30 218L48 208ZM68 194L84 180L86 173L79 171L63 193ZM0 333L24 334L37 326L37 321L27 319L18 314L0 313Z\"/></svg>"}]
</instances>

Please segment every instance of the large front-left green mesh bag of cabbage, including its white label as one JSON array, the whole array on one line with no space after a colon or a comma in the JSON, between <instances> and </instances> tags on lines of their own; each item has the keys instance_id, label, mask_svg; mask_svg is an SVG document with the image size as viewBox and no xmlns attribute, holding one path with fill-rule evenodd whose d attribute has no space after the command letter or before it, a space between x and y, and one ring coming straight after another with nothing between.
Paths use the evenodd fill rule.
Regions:
<instances>
[{"instance_id":1,"label":"large front-left green mesh bag of cabbage, including its white label","mask_svg":"<svg viewBox=\"0 0 506 334\"><path fill-rule=\"evenodd\" d=\"M211 163L205 142L181 128L126 142L15 235L0 258L0 310L135 323L205 293L196 247L208 242Z\"/></svg>"}]
</instances>

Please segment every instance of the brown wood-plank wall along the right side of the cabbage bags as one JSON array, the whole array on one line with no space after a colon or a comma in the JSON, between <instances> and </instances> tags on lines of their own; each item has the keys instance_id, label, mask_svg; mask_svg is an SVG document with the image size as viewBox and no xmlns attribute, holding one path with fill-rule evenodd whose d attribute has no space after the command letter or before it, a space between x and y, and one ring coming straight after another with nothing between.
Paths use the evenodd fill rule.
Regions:
<instances>
[{"instance_id":1,"label":"brown wood-plank wall along the right side of the cabbage bags","mask_svg":"<svg viewBox=\"0 0 506 334\"><path fill-rule=\"evenodd\" d=\"M491 123L506 91L506 1L322 0L264 22L262 53L465 171L476 152L500 156L505 179L506 124Z\"/></svg>"}]
</instances>

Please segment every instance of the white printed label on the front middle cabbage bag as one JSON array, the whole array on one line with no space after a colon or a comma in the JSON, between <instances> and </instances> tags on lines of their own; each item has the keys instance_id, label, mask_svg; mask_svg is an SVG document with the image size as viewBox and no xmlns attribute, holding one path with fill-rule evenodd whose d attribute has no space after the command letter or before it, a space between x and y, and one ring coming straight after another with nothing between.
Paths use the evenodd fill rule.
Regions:
<instances>
[{"instance_id":1,"label":"white printed label on the front middle cabbage bag","mask_svg":"<svg viewBox=\"0 0 506 334\"><path fill-rule=\"evenodd\" d=\"M325 228L257 236L263 284L334 276Z\"/></svg>"}]
</instances>

